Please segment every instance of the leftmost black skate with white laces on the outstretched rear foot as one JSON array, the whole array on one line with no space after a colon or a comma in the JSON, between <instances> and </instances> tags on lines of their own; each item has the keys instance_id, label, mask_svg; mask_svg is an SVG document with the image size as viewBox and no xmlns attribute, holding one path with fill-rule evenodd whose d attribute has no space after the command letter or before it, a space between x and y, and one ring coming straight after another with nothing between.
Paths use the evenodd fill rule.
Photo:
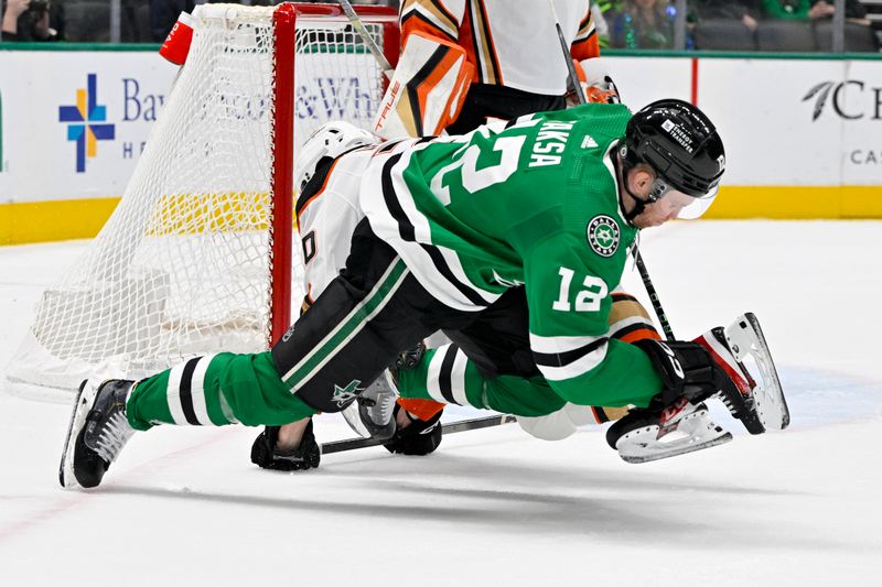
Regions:
<instances>
[{"instance_id":1,"label":"leftmost black skate with white laces on the outstretched rear foot","mask_svg":"<svg viewBox=\"0 0 882 587\"><path fill-rule=\"evenodd\" d=\"M133 381L109 379L98 384L87 379L71 415L58 470L62 487L97 487L135 428L126 418L126 401Z\"/></svg>"}]
</instances>

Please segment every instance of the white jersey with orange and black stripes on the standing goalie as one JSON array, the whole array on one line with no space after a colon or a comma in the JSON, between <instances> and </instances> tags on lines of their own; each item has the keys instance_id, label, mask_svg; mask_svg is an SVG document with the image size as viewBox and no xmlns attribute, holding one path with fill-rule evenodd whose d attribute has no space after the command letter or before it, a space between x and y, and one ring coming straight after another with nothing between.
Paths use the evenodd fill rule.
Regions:
<instances>
[{"instance_id":1,"label":"white jersey with orange and black stripes on the standing goalie","mask_svg":"<svg viewBox=\"0 0 882 587\"><path fill-rule=\"evenodd\" d=\"M552 0L572 57L600 55L589 0ZM420 30L462 46L473 81L561 96L567 63L548 0L404 0L401 42Z\"/></svg>"}]
</instances>

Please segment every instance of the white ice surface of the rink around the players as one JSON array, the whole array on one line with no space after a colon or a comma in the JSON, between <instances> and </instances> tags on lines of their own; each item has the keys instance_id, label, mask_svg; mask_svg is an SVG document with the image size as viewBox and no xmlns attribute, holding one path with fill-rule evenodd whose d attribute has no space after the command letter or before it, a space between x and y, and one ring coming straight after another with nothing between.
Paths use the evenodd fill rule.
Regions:
<instances>
[{"instance_id":1,"label":"white ice surface of the rink around the players","mask_svg":"<svg viewBox=\"0 0 882 587\"><path fill-rule=\"evenodd\" d=\"M163 427L98 490L65 491L69 409L0 393L0 586L880 585L881 238L869 221L644 236L675 331L755 312L793 414L751 437L720 413L734 442L666 461L627 465L600 428L508 425L272 474L248 461L255 430ZM0 248L0 369L85 244ZM316 430L348 436L337 416Z\"/></svg>"}]
</instances>

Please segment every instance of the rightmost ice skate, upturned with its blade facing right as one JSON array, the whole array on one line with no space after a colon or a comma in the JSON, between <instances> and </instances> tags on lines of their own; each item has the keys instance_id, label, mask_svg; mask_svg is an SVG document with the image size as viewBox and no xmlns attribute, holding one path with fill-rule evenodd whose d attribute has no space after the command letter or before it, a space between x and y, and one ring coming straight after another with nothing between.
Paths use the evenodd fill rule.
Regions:
<instances>
[{"instance_id":1,"label":"rightmost ice skate, upturned with its blade facing right","mask_svg":"<svg viewBox=\"0 0 882 587\"><path fill-rule=\"evenodd\" d=\"M747 432L762 434L789 425L787 401L756 316L749 312L725 329L712 328L696 343L710 351L732 381L720 390L719 398ZM750 361L752 369L744 361Z\"/></svg>"}]
</instances>

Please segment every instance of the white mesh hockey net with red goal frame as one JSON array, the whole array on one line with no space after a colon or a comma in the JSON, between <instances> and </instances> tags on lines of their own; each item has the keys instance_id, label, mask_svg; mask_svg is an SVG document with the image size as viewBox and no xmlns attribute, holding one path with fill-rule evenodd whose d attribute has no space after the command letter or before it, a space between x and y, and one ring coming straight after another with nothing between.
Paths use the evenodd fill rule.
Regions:
<instances>
[{"instance_id":1,"label":"white mesh hockey net with red goal frame","mask_svg":"<svg viewBox=\"0 0 882 587\"><path fill-rule=\"evenodd\" d=\"M359 13L394 62L395 11ZM37 303L12 393L67 401L87 377L265 350L300 306L293 156L329 120L369 128L381 70L336 7L203 4L193 21L122 199Z\"/></svg>"}]
</instances>

